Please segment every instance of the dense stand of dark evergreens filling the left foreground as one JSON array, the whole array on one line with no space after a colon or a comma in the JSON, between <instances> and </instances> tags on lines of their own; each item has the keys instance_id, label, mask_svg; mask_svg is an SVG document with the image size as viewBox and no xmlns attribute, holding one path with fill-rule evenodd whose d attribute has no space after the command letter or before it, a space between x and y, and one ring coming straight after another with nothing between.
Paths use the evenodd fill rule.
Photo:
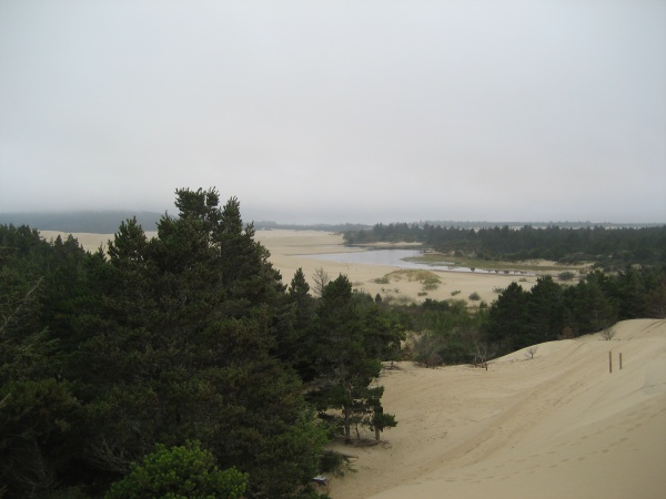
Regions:
<instances>
[{"instance_id":1,"label":"dense stand of dark evergreens filling the left foreground","mask_svg":"<svg viewBox=\"0 0 666 499\"><path fill-rule=\"evenodd\" d=\"M377 305L287 292L236 198L179 190L175 204L157 237L123 222L108 253L0 225L0 496L180 493L157 460L192 465L192 495L209 497L195 476L213 473L214 497L314 497L339 424L377 426L366 365L396 340L377 330ZM324 368L321 317L336 314L354 336ZM353 393L304 398L305 378L342 386L335 361L360 353ZM344 420L316 417L331 408Z\"/></svg>"}]
</instances>

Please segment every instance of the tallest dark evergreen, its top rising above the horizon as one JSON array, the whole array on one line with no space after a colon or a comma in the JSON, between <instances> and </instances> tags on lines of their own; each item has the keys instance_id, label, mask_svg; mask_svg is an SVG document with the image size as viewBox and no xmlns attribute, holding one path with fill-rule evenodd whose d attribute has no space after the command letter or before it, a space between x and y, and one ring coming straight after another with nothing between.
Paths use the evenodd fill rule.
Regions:
<instances>
[{"instance_id":1,"label":"tallest dark evergreen, its top rising above the horizon","mask_svg":"<svg viewBox=\"0 0 666 499\"><path fill-rule=\"evenodd\" d=\"M220 210L213 190L176 194L157 238L121 226L100 316L81 323L85 357L103 366L82 388L88 462L121 472L158 442L196 439L250 473L249 497L291 496L316 475L325 437L272 356L293 323L285 287L235 198Z\"/></svg>"}]
</instances>

